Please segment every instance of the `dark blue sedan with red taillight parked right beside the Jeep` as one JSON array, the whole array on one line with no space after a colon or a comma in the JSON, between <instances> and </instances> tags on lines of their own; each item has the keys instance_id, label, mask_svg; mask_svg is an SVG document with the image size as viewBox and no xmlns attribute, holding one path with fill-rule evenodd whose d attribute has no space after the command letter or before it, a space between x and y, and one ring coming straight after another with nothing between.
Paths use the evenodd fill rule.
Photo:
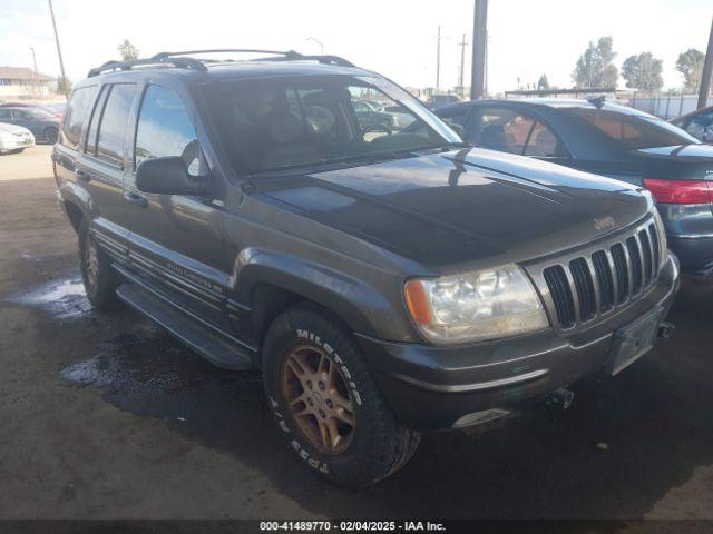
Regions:
<instances>
[{"instance_id":1,"label":"dark blue sedan with red taillight parked right beside the Jeep","mask_svg":"<svg viewBox=\"0 0 713 534\"><path fill-rule=\"evenodd\" d=\"M475 146L649 189L682 266L713 269L713 147L681 128L602 99L479 100L436 113Z\"/></svg>"}]
</instances>

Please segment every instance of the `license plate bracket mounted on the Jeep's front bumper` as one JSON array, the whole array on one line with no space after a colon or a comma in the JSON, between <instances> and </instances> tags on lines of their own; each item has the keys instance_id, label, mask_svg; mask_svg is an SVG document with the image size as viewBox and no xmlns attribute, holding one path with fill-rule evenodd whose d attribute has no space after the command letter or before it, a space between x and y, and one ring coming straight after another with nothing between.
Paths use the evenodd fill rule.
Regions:
<instances>
[{"instance_id":1,"label":"license plate bracket mounted on the Jeep's front bumper","mask_svg":"<svg viewBox=\"0 0 713 534\"><path fill-rule=\"evenodd\" d=\"M612 357L606 367L608 374L617 375L654 348L662 315L663 308L656 306L654 310L638 320L629 323L614 333Z\"/></svg>"}]
</instances>

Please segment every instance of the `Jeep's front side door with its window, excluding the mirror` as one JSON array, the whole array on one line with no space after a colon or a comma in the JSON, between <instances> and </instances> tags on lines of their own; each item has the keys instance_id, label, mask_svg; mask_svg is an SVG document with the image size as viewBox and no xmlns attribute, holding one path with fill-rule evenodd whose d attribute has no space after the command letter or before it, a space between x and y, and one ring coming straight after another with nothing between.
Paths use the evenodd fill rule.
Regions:
<instances>
[{"instance_id":1,"label":"Jeep's front side door with its window, excluding the mirror","mask_svg":"<svg viewBox=\"0 0 713 534\"><path fill-rule=\"evenodd\" d=\"M176 91L148 85L138 110L134 161L124 182L131 231L129 254L144 281L202 319L229 329L221 200L139 191L141 161L180 156L192 176L207 179L207 166L186 106Z\"/></svg>"}]
</instances>

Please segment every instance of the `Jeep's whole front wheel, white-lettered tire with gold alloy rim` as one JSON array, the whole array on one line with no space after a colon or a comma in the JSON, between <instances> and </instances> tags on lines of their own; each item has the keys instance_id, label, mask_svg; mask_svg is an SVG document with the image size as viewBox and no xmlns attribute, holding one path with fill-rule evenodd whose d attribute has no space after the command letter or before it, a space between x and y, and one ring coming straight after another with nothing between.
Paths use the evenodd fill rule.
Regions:
<instances>
[{"instance_id":1,"label":"Jeep's whole front wheel, white-lettered tire with gold alloy rim","mask_svg":"<svg viewBox=\"0 0 713 534\"><path fill-rule=\"evenodd\" d=\"M296 305L273 322L263 379L297 457L334 484L374 484L416 452L420 435L395 419L353 335L316 305Z\"/></svg>"}]
</instances>

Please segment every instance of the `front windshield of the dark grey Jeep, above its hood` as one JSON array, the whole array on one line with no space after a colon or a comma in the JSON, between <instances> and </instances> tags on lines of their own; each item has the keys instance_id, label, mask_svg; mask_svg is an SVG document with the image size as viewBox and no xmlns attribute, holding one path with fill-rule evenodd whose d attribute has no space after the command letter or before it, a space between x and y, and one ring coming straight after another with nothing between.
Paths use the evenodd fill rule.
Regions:
<instances>
[{"instance_id":1,"label":"front windshield of the dark grey Jeep, above its hood","mask_svg":"<svg viewBox=\"0 0 713 534\"><path fill-rule=\"evenodd\" d=\"M205 90L212 119L241 175L397 158L460 141L418 100L379 78L236 80ZM390 111L377 111L374 102ZM420 127L403 131L414 122Z\"/></svg>"}]
</instances>

